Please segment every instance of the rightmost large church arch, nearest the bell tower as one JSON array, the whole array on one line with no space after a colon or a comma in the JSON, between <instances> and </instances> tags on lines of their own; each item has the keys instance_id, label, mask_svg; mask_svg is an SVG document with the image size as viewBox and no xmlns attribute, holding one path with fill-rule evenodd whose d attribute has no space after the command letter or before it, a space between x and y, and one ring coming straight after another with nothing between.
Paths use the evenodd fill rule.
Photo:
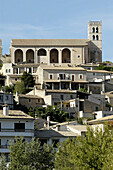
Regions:
<instances>
[{"instance_id":1,"label":"rightmost large church arch, nearest the bell tower","mask_svg":"<svg viewBox=\"0 0 113 170\"><path fill-rule=\"evenodd\" d=\"M71 51L68 48L63 49L62 51L62 63L71 62Z\"/></svg>"}]
</instances>

